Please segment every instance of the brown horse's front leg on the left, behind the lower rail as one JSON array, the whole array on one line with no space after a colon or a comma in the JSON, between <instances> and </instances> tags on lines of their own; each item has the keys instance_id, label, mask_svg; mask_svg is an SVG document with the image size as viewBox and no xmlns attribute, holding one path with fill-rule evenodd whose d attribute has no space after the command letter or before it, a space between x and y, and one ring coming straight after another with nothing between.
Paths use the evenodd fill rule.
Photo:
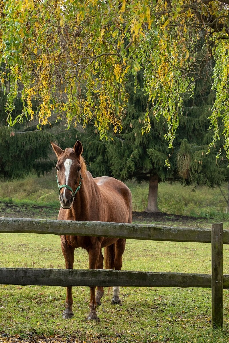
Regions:
<instances>
[{"instance_id":1,"label":"brown horse's front leg on the left, behind the lower rail","mask_svg":"<svg viewBox=\"0 0 229 343\"><path fill-rule=\"evenodd\" d=\"M74 249L72 248L72 246L68 245L65 236L60 236L60 238L61 238L61 249L65 258L65 268L72 269L73 263L74 263ZM72 287L67 287L65 304L66 304L66 307L62 314L62 318L64 319L72 318L73 317Z\"/></svg>"}]
</instances>

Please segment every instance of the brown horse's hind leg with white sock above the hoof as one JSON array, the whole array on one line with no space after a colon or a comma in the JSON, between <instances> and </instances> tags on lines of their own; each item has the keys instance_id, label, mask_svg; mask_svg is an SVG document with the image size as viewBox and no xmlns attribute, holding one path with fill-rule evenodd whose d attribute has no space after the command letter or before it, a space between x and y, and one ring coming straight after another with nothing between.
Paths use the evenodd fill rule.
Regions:
<instances>
[{"instance_id":1,"label":"brown horse's hind leg with white sock above the hoof","mask_svg":"<svg viewBox=\"0 0 229 343\"><path fill-rule=\"evenodd\" d=\"M115 258L114 258L114 269L121 270L123 265L122 256L125 250L126 239L118 239L115 242ZM113 298L111 300L112 304L119 304L122 305L122 301L119 298L120 287L115 286L113 287Z\"/></svg>"}]
</instances>

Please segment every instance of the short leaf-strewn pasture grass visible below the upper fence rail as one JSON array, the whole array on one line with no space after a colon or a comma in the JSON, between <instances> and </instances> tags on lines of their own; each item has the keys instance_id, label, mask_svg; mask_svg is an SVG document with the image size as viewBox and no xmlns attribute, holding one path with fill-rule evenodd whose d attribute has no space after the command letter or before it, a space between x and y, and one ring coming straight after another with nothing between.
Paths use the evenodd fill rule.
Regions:
<instances>
[{"instance_id":1,"label":"short leaf-strewn pasture grass visible below the upper fence rail","mask_svg":"<svg viewBox=\"0 0 229 343\"><path fill-rule=\"evenodd\" d=\"M64 268L59 237L0 234L4 267ZM229 247L224 273L229 273ZM210 273L210 244L128 240L123 269ZM87 252L75 251L75 268L88 267ZM65 288L1 285L0 332L76 336L91 342L228 342L229 292L224 291L224 330L211 331L211 291L206 288L122 287L123 306L105 296L100 323L85 320L89 288L73 288L71 320L63 320Z\"/></svg>"}]
</instances>

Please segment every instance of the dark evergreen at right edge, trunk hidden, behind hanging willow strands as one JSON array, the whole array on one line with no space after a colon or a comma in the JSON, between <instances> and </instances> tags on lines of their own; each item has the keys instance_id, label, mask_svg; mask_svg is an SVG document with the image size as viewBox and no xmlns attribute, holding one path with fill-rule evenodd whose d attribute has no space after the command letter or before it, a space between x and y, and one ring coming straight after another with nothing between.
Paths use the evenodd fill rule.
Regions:
<instances>
[{"instance_id":1,"label":"dark evergreen at right edge, trunk hidden, behind hanging willow strands","mask_svg":"<svg viewBox=\"0 0 229 343\"><path fill-rule=\"evenodd\" d=\"M201 60L203 49L199 55ZM196 86L193 99L184 99L184 115L180 117L174 146L177 173L183 185L213 188L228 179L228 161L222 148L222 136L207 154L209 138L213 134L213 130L209 129L209 117L215 99L215 93L211 91L212 63L210 60L204 67L199 64L194 75ZM218 126L223 130L221 118L218 118ZM221 155L216 159L220 149Z\"/></svg>"}]
</instances>

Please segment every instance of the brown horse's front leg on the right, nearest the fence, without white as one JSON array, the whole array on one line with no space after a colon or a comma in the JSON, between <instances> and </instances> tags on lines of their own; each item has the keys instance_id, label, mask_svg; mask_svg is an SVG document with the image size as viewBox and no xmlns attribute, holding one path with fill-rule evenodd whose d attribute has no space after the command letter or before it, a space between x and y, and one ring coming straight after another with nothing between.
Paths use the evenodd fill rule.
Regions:
<instances>
[{"instance_id":1,"label":"brown horse's front leg on the right, nearest the fence, without white","mask_svg":"<svg viewBox=\"0 0 229 343\"><path fill-rule=\"evenodd\" d=\"M88 250L89 255L89 269L97 269L98 267L98 261L100 257L100 251L101 246L100 245L94 245L92 248ZM100 321L99 317L96 314L96 300L95 300L95 287L90 287L90 312L87 316L87 319L94 319L97 321Z\"/></svg>"}]
</instances>

